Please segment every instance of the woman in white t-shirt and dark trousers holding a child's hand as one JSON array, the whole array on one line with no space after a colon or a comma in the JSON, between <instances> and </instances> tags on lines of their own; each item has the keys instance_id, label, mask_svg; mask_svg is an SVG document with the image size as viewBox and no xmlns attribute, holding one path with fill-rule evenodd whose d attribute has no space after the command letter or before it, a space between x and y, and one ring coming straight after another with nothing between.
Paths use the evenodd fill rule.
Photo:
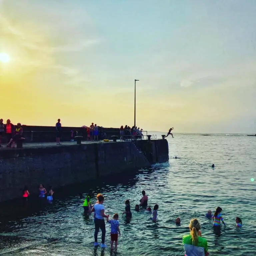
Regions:
<instances>
[{"instance_id":1,"label":"woman in white t-shirt and dark trousers holding a child's hand","mask_svg":"<svg viewBox=\"0 0 256 256\"><path fill-rule=\"evenodd\" d=\"M106 235L106 226L105 226L105 218L108 218L109 215L104 213L104 196L101 194L97 195L98 203L95 204L92 208L92 212L95 212L94 224L95 224L95 232L94 232L94 246L99 246L98 243L98 233L99 229L101 229L101 248L106 248L105 245L105 235Z\"/></svg>"}]
</instances>

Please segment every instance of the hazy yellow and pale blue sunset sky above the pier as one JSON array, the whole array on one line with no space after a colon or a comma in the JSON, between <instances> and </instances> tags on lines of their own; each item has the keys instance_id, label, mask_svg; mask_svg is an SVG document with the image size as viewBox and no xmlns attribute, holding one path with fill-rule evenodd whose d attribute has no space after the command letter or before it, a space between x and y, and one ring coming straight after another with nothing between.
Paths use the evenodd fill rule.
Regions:
<instances>
[{"instance_id":1,"label":"hazy yellow and pale blue sunset sky above the pier","mask_svg":"<svg viewBox=\"0 0 256 256\"><path fill-rule=\"evenodd\" d=\"M256 1L0 0L0 118L256 133Z\"/></svg>"}]
</instances>

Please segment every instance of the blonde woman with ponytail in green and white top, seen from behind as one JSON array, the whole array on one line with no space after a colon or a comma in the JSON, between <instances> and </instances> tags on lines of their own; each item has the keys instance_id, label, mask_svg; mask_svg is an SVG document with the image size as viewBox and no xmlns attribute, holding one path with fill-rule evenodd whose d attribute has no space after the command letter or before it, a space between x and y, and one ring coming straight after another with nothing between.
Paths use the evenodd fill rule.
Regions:
<instances>
[{"instance_id":1,"label":"blonde woman with ponytail in green and white top, seen from behind","mask_svg":"<svg viewBox=\"0 0 256 256\"><path fill-rule=\"evenodd\" d=\"M189 223L189 229L190 234L182 238L185 256L207 256L207 240L201 237L199 221L192 219Z\"/></svg>"}]
</instances>

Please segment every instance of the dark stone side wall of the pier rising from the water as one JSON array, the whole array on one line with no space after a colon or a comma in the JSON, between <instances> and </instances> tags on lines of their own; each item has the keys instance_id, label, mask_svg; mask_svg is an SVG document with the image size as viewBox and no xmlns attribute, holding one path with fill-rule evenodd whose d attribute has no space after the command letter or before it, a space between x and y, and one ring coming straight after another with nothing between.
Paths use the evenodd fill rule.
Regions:
<instances>
[{"instance_id":1,"label":"dark stone side wall of the pier rising from the water","mask_svg":"<svg viewBox=\"0 0 256 256\"><path fill-rule=\"evenodd\" d=\"M122 174L168 161L166 140L125 142L26 143L23 149L0 149L0 202L22 196L25 185L60 187Z\"/></svg>"}]
</instances>

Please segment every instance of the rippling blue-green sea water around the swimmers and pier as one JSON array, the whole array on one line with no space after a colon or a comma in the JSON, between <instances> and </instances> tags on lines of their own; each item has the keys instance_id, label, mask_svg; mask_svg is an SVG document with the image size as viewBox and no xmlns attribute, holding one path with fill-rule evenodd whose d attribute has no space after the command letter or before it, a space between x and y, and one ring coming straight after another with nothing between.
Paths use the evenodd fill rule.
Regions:
<instances>
[{"instance_id":1,"label":"rippling blue-green sea water around the swimmers and pier","mask_svg":"<svg viewBox=\"0 0 256 256\"><path fill-rule=\"evenodd\" d=\"M93 218L82 215L83 200L77 193L89 188L104 194L108 214L120 215L117 255L184 255L182 236L189 233L191 218L200 221L210 255L255 255L256 184L251 178L256 180L256 137L175 133L174 137L168 137L168 163L56 190L52 205L38 199L26 207L19 202L0 205L0 255L110 255L109 248L94 249ZM127 223L121 217L124 201L130 199L134 208L143 189L149 205L159 205L158 222L152 223L141 211L133 212ZM214 234L212 221L204 218L217 206L226 222L220 236ZM181 218L180 226L174 223L176 217ZM236 217L243 221L241 229L235 227ZM109 245L108 224L106 229Z\"/></svg>"}]
</instances>

